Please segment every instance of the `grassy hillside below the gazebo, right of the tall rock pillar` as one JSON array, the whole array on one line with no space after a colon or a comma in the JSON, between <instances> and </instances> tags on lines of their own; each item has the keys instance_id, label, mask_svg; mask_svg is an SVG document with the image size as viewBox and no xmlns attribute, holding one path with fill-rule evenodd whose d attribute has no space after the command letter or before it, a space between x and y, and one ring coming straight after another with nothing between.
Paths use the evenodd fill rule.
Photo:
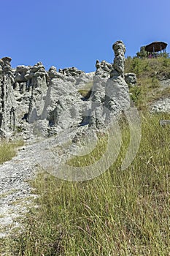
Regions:
<instances>
[{"instance_id":1,"label":"grassy hillside below the gazebo, right of the tall rock pillar","mask_svg":"<svg viewBox=\"0 0 170 256\"><path fill-rule=\"evenodd\" d=\"M131 97L139 110L145 108L153 112L169 112L170 59L163 57L131 59L129 57L125 61L125 72L136 74L138 86L131 88L130 91L132 93ZM168 104L164 102L168 102Z\"/></svg>"}]
</instances>

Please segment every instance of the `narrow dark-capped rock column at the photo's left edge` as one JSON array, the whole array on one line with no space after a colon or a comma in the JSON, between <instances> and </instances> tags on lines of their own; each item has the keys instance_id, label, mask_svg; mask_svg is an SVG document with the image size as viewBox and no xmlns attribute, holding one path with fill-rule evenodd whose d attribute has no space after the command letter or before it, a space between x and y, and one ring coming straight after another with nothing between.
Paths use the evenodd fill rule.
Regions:
<instances>
[{"instance_id":1,"label":"narrow dark-capped rock column at the photo's left edge","mask_svg":"<svg viewBox=\"0 0 170 256\"><path fill-rule=\"evenodd\" d=\"M0 61L0 129L1 134L15 130L16 125L16 102L12 93L15 82L10 65L11 59L5 57Z\"/></svg>"}]
</instances>

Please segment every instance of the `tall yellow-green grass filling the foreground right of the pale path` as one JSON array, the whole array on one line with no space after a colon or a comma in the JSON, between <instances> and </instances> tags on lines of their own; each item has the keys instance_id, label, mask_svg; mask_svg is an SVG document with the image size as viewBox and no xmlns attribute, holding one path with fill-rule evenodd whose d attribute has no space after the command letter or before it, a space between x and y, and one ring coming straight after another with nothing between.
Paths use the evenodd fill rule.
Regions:
<instances>
[{"instance_id":1,"label":"tall yellow-green grass filling the foreground right of the pale path","mask_svg":"<svg viewBox=\"0 0 170 256\"><path fill-rule=\"evenodd\" d=\"M109 170L90 181L62 181L39 173L34 187L40 207L31 209L12 253L169 255L169 127L159 125L169 117L142 115L141 145L126 170L120 170L122 150ZM128 135L124 125L125 147Z\"/></svg>"}]
</instances>

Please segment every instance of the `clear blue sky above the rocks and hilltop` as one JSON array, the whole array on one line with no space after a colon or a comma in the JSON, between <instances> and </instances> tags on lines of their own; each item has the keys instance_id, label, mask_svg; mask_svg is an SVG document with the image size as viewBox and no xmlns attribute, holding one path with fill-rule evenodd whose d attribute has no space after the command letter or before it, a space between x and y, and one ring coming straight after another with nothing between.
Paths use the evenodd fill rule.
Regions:
<instances>
[{"instance_id":1,"label":"clear blue sky above the rocks and hilltop","mask_svg":"<svg viewBox=\"0 0 170 256\"><path fill-rule=\"evenodd\" d=\"M95 71L96 59L112 62L118 39L125 56L153 41L170 51L169 0L0 0L0 10L0 58L10 56L12 67Z\"/></svg>"}]
</instances>

